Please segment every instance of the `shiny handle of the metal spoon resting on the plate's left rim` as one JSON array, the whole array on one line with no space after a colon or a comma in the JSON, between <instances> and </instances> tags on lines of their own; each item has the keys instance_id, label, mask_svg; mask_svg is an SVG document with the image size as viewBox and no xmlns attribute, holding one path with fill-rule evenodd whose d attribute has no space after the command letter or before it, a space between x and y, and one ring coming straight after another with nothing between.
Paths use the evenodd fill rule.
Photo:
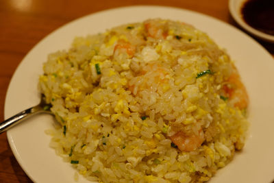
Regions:
<instances>
[{"instance_id":1,"label":"shiny handle of the metal spoon resting on the plate's left rim","mask_svg":"<svg viewBox=\"0 0 274 183\"><path fill-rule=\"evenodd\" d=\"M20 123L24 119L31 117L33 114L43 112L43 111L45 110L43 110L42 107L38 105L32 108L28 108L27 110L23 110L22 112L19 112L18 114L15 114L13 117L10 117L9 119L6 119L5 121L0 123L0 134L5 132L5 130L10 129L10 127Z\"/></svg>"}]
</instances>

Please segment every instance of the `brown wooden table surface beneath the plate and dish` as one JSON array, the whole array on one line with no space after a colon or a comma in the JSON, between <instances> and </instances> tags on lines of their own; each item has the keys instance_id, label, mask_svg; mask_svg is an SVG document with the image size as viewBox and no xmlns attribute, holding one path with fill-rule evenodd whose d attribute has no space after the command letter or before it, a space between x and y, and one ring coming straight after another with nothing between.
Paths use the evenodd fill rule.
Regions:
<instances>
[{"instance_id":1,"label":"brown wooden table surface beneath the plate and dish","mask_svg":"<svg viewBox=\"0 0 274 183\"><path fill-rule=\"evenodd\" d=\"M27 52L42 38L86 14L127 5L169 5L214 16L236 26L228 0L1 0L0 1L0 121L10 79ZM274 56L274 44L260 42ZM274 60L273 60L274 61ZM32 182L0 135L0 182Z\"/></svg>"}]
</instances>

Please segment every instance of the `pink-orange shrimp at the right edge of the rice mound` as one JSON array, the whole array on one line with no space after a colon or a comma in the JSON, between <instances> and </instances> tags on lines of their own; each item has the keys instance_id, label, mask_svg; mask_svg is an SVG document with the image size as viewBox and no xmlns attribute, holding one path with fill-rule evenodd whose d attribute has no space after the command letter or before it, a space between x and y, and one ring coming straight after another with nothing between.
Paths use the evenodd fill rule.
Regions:
<instances>
[{"instance_id":1,"label":"pink-orange shrimp at the right edge of the rice mound","mask_svg":"<svg viewBox=\"0 0 274 183\"><path fill-rule=\"evenodd\" d=\"M227 84L223 86L225 94L229 97L229 103L238 107L240 110L247 108L249 97L244 84L240 81L240 75L235 66L233 66L232 74L227 80Z\"/></svg>"}]
</instances>

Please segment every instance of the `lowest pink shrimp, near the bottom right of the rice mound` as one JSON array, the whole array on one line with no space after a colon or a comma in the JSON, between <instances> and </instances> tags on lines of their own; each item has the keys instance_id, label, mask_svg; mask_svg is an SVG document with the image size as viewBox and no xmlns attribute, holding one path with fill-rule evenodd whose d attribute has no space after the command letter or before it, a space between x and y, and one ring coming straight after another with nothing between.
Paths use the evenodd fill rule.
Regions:
<instances>
[{"instance_id":1,"label":"lowest pink shrimp, near the bottom right of the rice mound","mask_svg":"<svg viewBox=\"0 0 274 183\"><path fill-rule=\"evenodd\" d=\"M170 138L181 151L194 151L200 147L205 140L203 130L200 130L197 135L186 135L184 132L179 131Z\"/></svg>"}]
</instances>

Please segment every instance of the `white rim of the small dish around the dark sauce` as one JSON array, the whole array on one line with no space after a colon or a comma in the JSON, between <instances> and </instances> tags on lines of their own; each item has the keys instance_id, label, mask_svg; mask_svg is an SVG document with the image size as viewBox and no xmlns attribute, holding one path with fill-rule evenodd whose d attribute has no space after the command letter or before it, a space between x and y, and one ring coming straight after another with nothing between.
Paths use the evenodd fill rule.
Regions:
<instances>
[{"instance_id":1,"label":"white rim of the small dish around the dark sauce","mask_svg":"<svg viewBox=\"0 0 274 183\"><path fill-rule=\"evenodd\" d=\"M229 12L232 14L233 19L240 25L243 29L246 29L247 32L268 42L274 42L274 36L260 32L258 29L254 29L242 19L241 8L243 3L248 0L229 0Z\"/></svg>"}]
</instances>

